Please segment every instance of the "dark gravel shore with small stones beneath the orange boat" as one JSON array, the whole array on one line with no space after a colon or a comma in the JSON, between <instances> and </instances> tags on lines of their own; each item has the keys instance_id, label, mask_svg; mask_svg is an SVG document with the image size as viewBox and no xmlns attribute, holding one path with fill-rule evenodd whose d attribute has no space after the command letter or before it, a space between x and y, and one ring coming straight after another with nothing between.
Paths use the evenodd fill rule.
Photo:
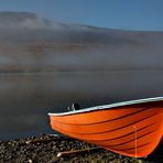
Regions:
<instances>
[{"instance_id":1,"label":"dark gravel shore with small stones beneath the orange boat","mask_svg":"<svg viewBox=\"0 0 163 163\"><path fill-rule=\"evenodd\" d=\"M72 153L59 153L76 151ZM0 163L162 163L163 144L145 159L116 154L72 138L41 134L0 142Z\"/></svg>"}]
</instances>

